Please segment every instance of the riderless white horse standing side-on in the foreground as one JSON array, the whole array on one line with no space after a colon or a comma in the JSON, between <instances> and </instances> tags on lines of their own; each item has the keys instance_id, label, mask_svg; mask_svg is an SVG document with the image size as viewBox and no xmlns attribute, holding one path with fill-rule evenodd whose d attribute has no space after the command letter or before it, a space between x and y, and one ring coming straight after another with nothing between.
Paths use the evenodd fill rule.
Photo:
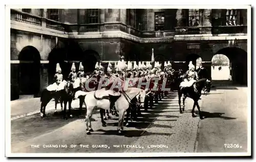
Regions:
<instances>
[{"instance_id":1,"label":"riderless white horse standing side-on in the foreground","mask_svg":"<svg viewBox=\"0 0 256 162\"><path fill-rule=\"evenodd\" d=\"M91 125L91 117L93 110L95 108L110 110L110 100L106 98L109 96L109 94L112 94L112 90L105 90L104 88L90 92L84 92L80 90L76 92L75 99L77 99L79 96L86 96L84 98L84 102L86 103L87 107L87 134L91 134L91 132L93 131ZM121 133L120 129L123 130L124 112L129 108L131 100L135 98L137 95L140 95L140 106L144 106L145 90L137 87L128 87L127 90L121 93L121 96L115 102L115 107L119 115L117 128L118 133Z\"/></svg>"}]
</instances>

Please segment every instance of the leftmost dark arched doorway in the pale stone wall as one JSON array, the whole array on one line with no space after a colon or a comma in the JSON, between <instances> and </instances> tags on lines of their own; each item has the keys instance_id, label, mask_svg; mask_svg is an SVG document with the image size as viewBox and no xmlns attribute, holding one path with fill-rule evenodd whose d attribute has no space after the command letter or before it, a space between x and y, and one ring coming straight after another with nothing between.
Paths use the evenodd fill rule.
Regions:
<instances>
[{"instance_id":1,"label":"leftmost dark arched doorway in the pale stone wall","mask_svg":"<svg viewBox=\"0 0 256 162\"><path fill-rule=\"evenodd\" d=\"M40 91L40 53L27 46L20 51L19 62L19 94L37 97Z\"/></svg>"}]
</instances>

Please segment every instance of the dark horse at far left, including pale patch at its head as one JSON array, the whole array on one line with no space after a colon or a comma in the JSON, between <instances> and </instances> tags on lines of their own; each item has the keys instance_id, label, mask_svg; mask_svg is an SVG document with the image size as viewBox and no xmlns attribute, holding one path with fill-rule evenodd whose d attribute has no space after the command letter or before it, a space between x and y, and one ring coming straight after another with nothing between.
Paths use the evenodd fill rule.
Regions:
<instances>
[{"instance_id":1,"label":"dark horse at far left, including pale patch at its head","mask_svg":"<svg viewBox=\"0 0 256 162\"><path fill-rule=\"evenodd\" d=\"M46 106L47 104L51 101L51 99L54 98L55 100L55 112L57 111L57 103L58 103L58 99L60 99L60 105L61 105L61 110L63 108L62 106L62 103L64 102L65 106L64 106L64 111L65 111L65 107L67 109L67 103L66 100L67 98L67 94L69 94L72 90L72 87L73 85L72 84L69 84L67 81L62 81L60 83L60 86L62 87L60 90L58 91L55 91L55 90L48 90L47 88L45 88L44 90L42 90L42 93L41 93L41 97L40 97L40 102L41 102L41 106L40 106L40 117L41 118L44 118L46 117ZM64 113L65 114L65 113Z\"/></svg>"}]
</instances>

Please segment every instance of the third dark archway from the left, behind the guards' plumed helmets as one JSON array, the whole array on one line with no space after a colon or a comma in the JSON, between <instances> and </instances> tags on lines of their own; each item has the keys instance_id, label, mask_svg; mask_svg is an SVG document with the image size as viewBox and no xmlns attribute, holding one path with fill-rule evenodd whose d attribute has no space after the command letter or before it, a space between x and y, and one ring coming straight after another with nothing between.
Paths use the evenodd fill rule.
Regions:
<instances>
[{"instance_id":1,"label":"third dark archway from the left, behind the guards' plumed helmets","mask_svg":"<svg viewBox=\"0 0 256 162\"><path fill-rule=\"evenodd\" d=\"M96 62L100 61L100 56L96 51L87 50L84 51L84 57L82 59L82 64L84 67L84 72L93 72L95 70Z\"/></svg>"}]
</instances>

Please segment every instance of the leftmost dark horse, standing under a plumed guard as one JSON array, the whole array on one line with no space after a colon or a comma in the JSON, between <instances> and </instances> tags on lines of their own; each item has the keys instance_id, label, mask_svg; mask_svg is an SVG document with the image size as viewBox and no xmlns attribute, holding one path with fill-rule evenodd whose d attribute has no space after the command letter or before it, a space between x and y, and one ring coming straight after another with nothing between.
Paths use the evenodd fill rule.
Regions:
<instances>
[{"instance_id":1,"label":"leftmost dark horse, standing under a plumed guard","mask_svg":"<svg viewBox=\"0 0 256 162\"><path fill-rule=\"evenodd\" d=\"M40 98L41 118L46 117L46 106L53 98L55 99L55 110L56 110L56 105L57 105L58 99L60 99L61 108L62 108L62 103L64 102L64 110L63 110L63 118L64 119L67 119L66 110L67 110L67 103L69 102L69 114L70 114L70 117L72 118L71 102L72 102L73 95L74 95L73 94L73 84L70 82L67 82L66 85L64 86L64 89L61 89L59 91L49 91L46 88L44 90L42 90L42 94L41 94L41 98Z\"/></svg>"}]
</instances>

